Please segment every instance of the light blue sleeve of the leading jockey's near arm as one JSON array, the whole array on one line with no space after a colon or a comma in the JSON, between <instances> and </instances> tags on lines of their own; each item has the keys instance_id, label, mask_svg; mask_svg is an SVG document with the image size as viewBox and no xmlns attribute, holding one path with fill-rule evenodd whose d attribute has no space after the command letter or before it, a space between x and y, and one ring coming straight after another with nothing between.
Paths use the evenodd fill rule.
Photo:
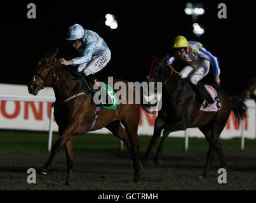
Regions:
<instances>
[{"instance_id":1,"label":"light blue sleeve of the leading jockey's near arm","mask_svg":"<svg viewBox=\"0 0 256 203\"><path fill-rule=\"evenodd\" d=\"M82 63L87 63L91 60L91 56L97 48L98 37L90 36L86 41L86 49L84 49L83 56L72 59L73 65L80 65Z\"/></svg>"}]
</instances>

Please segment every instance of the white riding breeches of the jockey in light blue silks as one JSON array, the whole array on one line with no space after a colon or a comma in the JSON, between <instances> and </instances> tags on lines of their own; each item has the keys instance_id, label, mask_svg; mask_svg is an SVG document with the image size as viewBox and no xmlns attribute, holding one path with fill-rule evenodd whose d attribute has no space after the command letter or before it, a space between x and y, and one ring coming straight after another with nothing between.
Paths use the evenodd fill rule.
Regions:
<instances>
[{"instance_id":1,"label":"white riding breeches of the jockey in light blue silks","mask_svg":"<svg viewBox=\"0 0 256 203\"><path fill-rule=\"evenodd\" d=\"M100 55L91 56L91 60L88 63L82 63L77 68L78 72L83 71L84 74L90 75L102 70L107 63L111 60L111 51L108 48Z\"/></svg>"}]
</instances>

